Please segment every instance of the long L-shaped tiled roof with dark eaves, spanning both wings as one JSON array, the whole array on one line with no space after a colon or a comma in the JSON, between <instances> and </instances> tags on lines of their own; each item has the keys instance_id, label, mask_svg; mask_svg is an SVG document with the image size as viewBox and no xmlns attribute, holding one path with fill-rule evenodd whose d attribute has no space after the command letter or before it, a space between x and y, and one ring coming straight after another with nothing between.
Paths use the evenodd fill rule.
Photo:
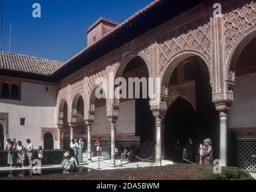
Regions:
<instances>
[{"instance_id":1,"label":"long L-shaped tiled roof with dark eaves, spanning both wings","mask_svg":"<svg viewBox=\"0 0 256 192\"><path fill-rule=\"evenodd\" d=\"M127 43L131 39L138 37L139 35L143 34L143 32L146 32L145 30L150 30L155 26L160 25L162 22L166 21L167 19L173 18L177 14L182 13L181 11L186 11L188 8L198 5L203 1L206 1L206 0L194 0L194 1L181 0L179 1L178 4L186 4L186 6L184 5L185 7L184 10L183 8L182 9L180 8L178 9L178 11L173 11L173 10L170 10L170 7L174 5L178 6L178 4L175 4L175 2L177 1L154 0L153 2L151 2L151 4L142 8L142 10L137 11L135 14L133 14L133 16L129 17L128 19L126 19L125 21L117 25L110 32L103 35L94 43L90 44L80 52L76 53L76 55L68 59L66 62L51 61L47 59L34 58L31 56L0 52L1 53L0 75L2 73L5 73L5 71L2 71L1 73L1 69L8 70L8 71L16 71L16 72L22 71L22 72L28 72L28 73L32 73L36 75L39 74L40 76L44 76L43 78L46 77L46 79L43 79L43 80L46 80L46 81L58 82L59 80L68 76L69 74L72 74L73 72L79 70L85 65L90 64L91 62L95 61L101 56L107 54L111 50L114 50L117 47L121 46L122 44ZM165 12L163 14L159 14L161 13L159 11L160 9L164 9ZM155 16L155 13L153 13L154 10L158 10L157 16ZM140 18L143 19L143 22L144 22L143 25L145 24L145 26L143 27L141 26L140 23L139 24L136 23L137 20ZM146 22L146 20L148 20L148 22ZM154 26L154 23L158 23L158 24L155 24ZM127 31L129 31L128 34L124 34L124 31L126 31L126 29ZM127 35L127 37L125 35ZM116 39L116 38L119 38L119 39L114 41L113 43L113 39ZM123 40L120 40L120 38L123 38ZM107 44L110 44L110 45L107 46ZM17 74L17 73L13 75L21 76L21 74ZM27 76L27 77L32 78L32 76ZM34 78L37 79L37 77L34 77Z\"/></svg>"}]
</instances>

